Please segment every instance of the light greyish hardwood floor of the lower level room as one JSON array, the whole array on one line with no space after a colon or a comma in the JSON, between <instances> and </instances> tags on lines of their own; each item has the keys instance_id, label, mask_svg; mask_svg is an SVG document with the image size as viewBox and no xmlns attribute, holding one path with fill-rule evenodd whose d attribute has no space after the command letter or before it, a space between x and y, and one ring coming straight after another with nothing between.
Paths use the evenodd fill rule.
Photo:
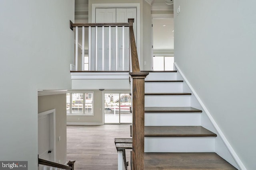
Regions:
<instances>
[{"instance_id":1,"label":"light greyish hardwood floor of the lower level room","mask_svg":"<svg viewBox=\"0 0 256 170\"><path fill-rule=\"evenodd\" d=\"M67 160L76 160L75 170L117 170L114 138L130 138L130 125L67 125Z\"/></svg>"}]
</instances>

